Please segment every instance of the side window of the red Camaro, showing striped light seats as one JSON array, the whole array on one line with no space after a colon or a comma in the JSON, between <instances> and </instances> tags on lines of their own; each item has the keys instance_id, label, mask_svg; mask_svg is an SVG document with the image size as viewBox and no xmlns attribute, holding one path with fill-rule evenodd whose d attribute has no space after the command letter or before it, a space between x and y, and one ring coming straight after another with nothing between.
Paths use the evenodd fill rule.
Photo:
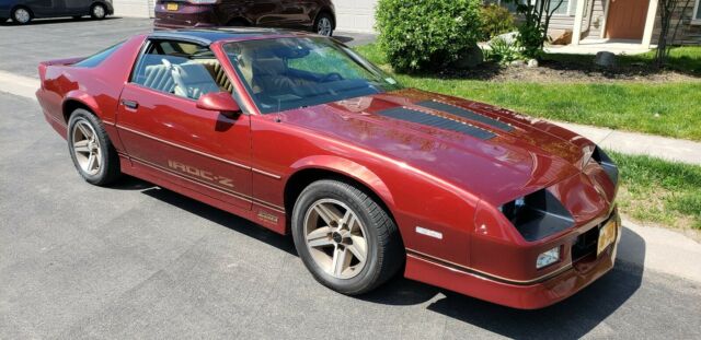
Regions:
<instances>
[{"instance_id":1,"label":"side window of the red Camaro, showing striped light seats","mask_svg":"<svg viewBox=\"0 0 701 340\"><path fill-rule=\"evenodd\" d=\"M191 99L210 92L233 90L221 63L208 47L175 40L149 42L130 81Z\"/></svg>"}]
</instances>

